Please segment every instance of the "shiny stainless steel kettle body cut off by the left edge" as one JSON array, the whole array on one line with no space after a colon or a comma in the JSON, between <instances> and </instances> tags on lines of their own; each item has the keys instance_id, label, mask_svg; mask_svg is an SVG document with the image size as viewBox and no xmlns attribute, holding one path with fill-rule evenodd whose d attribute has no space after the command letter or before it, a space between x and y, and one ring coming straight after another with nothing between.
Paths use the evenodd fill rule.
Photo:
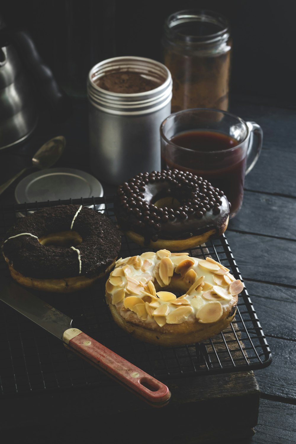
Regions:
<instances>
[{"instance_id":1,"label":"shiny stainless steel kettle body cut off by the left edge","mask_svg":"<svg viewBox=\"0 0 296 444\"><path fill-rule=\"evenodd\" d=\"M32 86L15 48L0 48L0 149L26 139L37 120Z\"/></svg>"}]
</instances>

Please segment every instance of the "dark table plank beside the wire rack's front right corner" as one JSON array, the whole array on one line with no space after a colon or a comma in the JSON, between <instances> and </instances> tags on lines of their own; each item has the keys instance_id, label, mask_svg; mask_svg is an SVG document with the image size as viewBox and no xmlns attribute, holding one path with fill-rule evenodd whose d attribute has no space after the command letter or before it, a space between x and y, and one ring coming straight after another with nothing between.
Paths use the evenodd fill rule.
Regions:
<instances>
[{"instance_id":1,"label":"dark table plank beside the wire rack's front right corner","mask_svg":"<svg viewBox=\"0 0 296 444\"><path fill-rule=\"evenodd\" d=\"M272 352L272 364L255 370L262 393L280 396L296 404L296 342L267 338Z\"/></svg>"}]
</instances>

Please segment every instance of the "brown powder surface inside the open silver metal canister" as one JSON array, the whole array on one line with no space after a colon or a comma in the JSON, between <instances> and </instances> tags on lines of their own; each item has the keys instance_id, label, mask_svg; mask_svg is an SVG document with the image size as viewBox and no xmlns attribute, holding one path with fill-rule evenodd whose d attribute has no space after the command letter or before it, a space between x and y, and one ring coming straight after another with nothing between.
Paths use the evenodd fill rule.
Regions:
<instances>
[{"instance_id":1,"label":"brown powder surface inside the open silver metal canister","mask_svg":"<svg viewBox=\"0 0 296 444\"><path fill-rule=\"evenodd\" d=\"M147 79L138 72L118 71L103 75L95 84L106 91L119 94L136 94L151 91L161 85L156 80Z\"/></svg>"}]
</instances>

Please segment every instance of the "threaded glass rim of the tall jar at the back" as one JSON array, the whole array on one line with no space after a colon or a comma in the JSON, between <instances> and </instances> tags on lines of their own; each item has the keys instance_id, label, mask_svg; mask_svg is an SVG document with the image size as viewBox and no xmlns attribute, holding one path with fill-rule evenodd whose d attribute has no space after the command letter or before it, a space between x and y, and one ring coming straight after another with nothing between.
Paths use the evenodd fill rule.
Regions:
<instances>
[{"instance_id":1,"label":"threaded glass rim of the tall jar at the back","mask_svg":"<svg viewBox=\"0 0 296 444\"><path fill-rule=\"evenodd\" d=\"M221 28L221 31L213 34L206 34L204 36L195 36L183 34L175 29L179 24L189 22L216 24ZM221 40L225 34L229 33L229 22L227 18L219 12L208 9L184 9L182 11L174 12L166 18L165 32L167 36L178 38L187 43L210 43Z\"/></svg>"}]
</instances>

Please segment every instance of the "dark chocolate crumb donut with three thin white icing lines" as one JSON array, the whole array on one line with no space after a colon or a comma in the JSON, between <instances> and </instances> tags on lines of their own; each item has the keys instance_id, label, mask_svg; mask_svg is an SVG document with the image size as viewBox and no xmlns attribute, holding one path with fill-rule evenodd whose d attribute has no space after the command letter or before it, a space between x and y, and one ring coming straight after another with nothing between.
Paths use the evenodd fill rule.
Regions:
<instances>
[{"instance_id":1,"label":"dark chocolate crumb donut with three thin white icing lines","mask_svg":"<svg viewBox=\"0 0 296 444\"><path fill-rule=\"evenodd\" d=\"M19 218L2 252L19 283L70 293L111 270L120 245L119 231L107 216L82 205L60 205Z\"/></svg>"}]
</instances>

